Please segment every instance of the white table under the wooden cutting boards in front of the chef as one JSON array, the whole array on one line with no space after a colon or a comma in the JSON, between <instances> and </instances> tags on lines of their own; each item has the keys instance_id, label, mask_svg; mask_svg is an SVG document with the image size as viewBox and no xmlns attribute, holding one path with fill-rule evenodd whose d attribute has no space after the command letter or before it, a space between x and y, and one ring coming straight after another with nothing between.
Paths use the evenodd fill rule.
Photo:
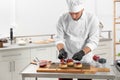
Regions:
<instances>
[{"instance_id":1,"label":"white table under the wooden cutting boards in front of the chef","mask_svg":"<svg viewBox=\"0 0 120 80\"><path fill-rule=\"evenodd\" d=\"M50 72L36 72L37 65L30 64L21 73L22 80L26 77L45 77L45 78L85 78L85 79L107 79L114 80L115 73L110 66L110 72L97 72L96 74L82 74L82 73L50 73Z\"/></svg>"}]
</instances>

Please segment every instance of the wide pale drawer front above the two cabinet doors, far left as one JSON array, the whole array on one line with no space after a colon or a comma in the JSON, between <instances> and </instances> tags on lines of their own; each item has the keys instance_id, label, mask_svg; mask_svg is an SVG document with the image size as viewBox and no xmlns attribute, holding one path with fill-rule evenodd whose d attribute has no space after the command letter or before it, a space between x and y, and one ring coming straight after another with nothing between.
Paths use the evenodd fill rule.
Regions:
<instances>
[{"instance_id":1,"label":"wide pale drawer front above the two cabinet doors, far left","mask_svg":"<svg viewBox=\"0 0 120 80\"><path fill-rule=\"evenodd\" d=\"M30 49L12 49L0 51L0 61L30 58Z\"/></svg>"}]
</instances>

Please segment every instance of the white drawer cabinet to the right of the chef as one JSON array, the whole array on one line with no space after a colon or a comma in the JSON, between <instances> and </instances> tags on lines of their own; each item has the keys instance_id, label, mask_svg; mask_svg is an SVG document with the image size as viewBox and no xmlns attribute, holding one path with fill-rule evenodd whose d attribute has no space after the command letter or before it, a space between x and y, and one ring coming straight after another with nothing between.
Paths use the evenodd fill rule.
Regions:
<instances>
[{"instance_id":1,"label":"white drawer cabinet to the right of the chef","mask_svg":"<svg viewBox=\"0 0 120 80\"><path fill-rule=\"evenodd\" d=\"M100 41L98 48L93 51L93 54L107 59L107 64L113 64L112 40Z\"/></svg>"}]
</instances>

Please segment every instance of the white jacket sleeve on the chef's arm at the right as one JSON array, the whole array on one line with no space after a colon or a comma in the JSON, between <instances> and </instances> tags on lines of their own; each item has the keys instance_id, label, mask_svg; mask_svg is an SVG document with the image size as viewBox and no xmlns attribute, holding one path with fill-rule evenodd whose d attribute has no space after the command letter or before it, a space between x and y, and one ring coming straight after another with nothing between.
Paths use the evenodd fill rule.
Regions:
<instances>
[{"instance_id":1,"label":"white jacket sleeve on the chef's arm at the right","mask_svg":"<svg viewBox=\"0 0 120 80\"><path fill-rule=\"evenodd\" d=\"M91 51L97 48L99 43L99 20L93 16L89 23L89 34L86 46L88 46Z\"/></svg>"}]
</instances>

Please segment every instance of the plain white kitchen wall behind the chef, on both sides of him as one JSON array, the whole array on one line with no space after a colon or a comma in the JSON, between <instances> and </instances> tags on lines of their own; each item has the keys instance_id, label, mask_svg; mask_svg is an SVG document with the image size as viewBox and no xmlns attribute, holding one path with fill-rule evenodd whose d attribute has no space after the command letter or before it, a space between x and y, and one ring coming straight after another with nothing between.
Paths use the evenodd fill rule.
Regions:
<instances>
[{"instance_id":1,"label":"plain white kitchen wall behind the chef, on both sides of him","mask_svg":"<svg viewBox=\"0 0 120 80\"><path fill-rule=\"evenodd\" d=\"M113 28L113 0L86 0L86 9L95 13L104 30ZM67 11L65 0L0 0L0 34L15 35L56 33L59 16Z\"/></svg>"}]
</instances>

